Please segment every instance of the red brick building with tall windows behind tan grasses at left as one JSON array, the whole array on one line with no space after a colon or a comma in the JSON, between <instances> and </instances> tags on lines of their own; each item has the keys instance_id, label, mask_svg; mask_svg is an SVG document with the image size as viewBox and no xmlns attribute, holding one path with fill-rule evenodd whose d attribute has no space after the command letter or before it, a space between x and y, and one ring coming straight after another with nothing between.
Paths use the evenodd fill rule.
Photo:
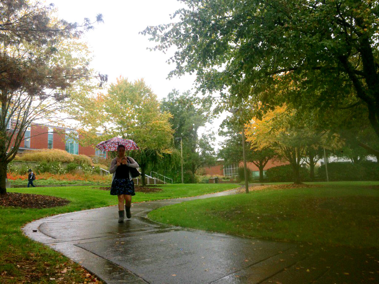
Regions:
<instances>
[{"instance_id":1,"label":"red brick building with tall windows behind tan grasses at left","mask_svg":"<svg viewBox=\"0 0 379 284\"><path fill-rule=\"evenodd\" d=\"M81 135L77 134L75 137L75 133L75 130L59 126L33 124L25 132L25 138L20 144L19 152L38 149L60 149L66 150L70 154L106 158L105 151L100 151L92 146L83 147L79 145L78 141L80 141Z\"/></svg>"}]
</instances>

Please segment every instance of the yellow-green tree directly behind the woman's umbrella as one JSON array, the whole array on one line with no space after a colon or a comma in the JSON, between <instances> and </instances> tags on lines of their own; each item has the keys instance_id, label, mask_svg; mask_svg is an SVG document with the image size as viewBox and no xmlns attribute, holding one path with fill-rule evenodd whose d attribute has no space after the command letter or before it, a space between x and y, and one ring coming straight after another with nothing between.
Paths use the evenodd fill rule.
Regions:
<instances>
[{"instance_id":1,"label":"yellow-green tree directly behind the woman's umbrella","mask_svg":"<svg viewBox=\"0 0 379 284\"><path fill-rule=\"evenodd\" d=\"M145 185L146 169L173 152L171 114L160 110L157 95L143 79L132 83L120 76L107 94L81 95L73 100L71 114L77 112L75 119L81 123L81 133L86 133L87 142L96 145L114 136L134 140L140 150L130 155L138 162ZM85 111L79 112L81 109ZM96 131L103 135L98 136Z\"/></svg>"}]
</instances>

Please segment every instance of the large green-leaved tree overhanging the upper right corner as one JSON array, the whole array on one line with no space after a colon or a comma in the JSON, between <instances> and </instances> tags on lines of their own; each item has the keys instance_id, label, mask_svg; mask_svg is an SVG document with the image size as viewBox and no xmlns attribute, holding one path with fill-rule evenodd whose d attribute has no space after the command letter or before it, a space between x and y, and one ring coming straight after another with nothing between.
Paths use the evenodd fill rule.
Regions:
<instances>
[{"instance_id":1,"label":"large green-leaved tree overhanging the upper right corner","mask_svg":"<svg viewBox=\"0 0 379 284\"><path fill-rule=\"evenodd\" d=\"M182 2L188 8L172 16L179 20L143 31L155 49L178 48L170 76L196 73L199 91L271 104L265 90L287 74L301 96L289 89L283 100L317 109L362 104L379 137L377 1Z\"/></svg>"}]
</instances>

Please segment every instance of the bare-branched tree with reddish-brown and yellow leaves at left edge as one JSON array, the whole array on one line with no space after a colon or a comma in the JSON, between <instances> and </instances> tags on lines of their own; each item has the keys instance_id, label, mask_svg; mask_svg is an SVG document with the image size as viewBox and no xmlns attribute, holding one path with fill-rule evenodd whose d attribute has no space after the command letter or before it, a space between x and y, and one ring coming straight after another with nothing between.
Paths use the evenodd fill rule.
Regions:
<instances>
[{"instance_id":1,"label":"bare-branched tree with reddish-brown and yellow leaves at left edge","mask_svg":"<svg viewBox=\"0 0 379 284\"><path fill-rule=\"evenodd\" d=\"M98 15L96 22L102 21ZM88 79L89 58L78 38L92 27L57 19L52 5L24 0L0 3L0 193L6 168L34 120L55 118L79 81ZM81 82L83 83L83 82Z\"/></svg>"}]
</instances>

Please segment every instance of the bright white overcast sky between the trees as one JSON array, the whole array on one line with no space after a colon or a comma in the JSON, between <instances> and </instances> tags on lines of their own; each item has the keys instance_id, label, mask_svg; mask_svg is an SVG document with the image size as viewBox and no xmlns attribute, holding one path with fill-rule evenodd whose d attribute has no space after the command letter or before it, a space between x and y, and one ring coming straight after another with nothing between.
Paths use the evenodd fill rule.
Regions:
<instances>
[{"instance_id":1,"label":"bright white overcast sky between the trees","mask_svg":"<svg viewBox=\"0 0 379 284\"><path fill-rule=\"evenodd\" d=\"M92 67L108 74L108 83L114 83L120 75L129 81L144 78L159 99L166 97L172 89L182 93L193 88L195 76L187 74L166 80L174 68L174 65L166 63L169 55L146 50L156 43L150 42L149 36L138 34L148 25L169 23L169 14L181 8L182 3L177 0L46 1L50 2L58 8L60 17L69 22L81 23L85 17L94 20L97 14L103 14L104 23L96 24L94 30L86 33L85 39L94 55ZM173 53L174 50L171 51ZM215 120L202 131L211 129L217 133L221 121ZM222 138L216 136L216 140Z\"/></svg>"}]
</instances>

